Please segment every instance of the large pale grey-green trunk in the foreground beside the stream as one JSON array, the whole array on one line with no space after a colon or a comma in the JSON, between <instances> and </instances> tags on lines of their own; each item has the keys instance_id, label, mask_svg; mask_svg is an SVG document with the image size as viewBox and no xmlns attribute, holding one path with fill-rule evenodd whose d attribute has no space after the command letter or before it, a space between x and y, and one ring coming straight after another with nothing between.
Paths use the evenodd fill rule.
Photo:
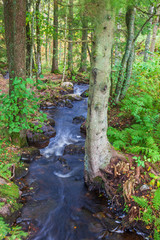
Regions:
<instances>
[{"instance_id":1,"label":"large pale grey-green trunk in the foreground beside the stream","mask_svg":"<svg viewBox=\"0 0 160 240\"><path fill-rule=\"evenodd\" d=\"M111 159L111 146L107 139L107 110L110 92L111 49L114 16L105 2L98 2L95 21L95 41L92 56L85 145L85 181L94 182L100 168Z\"/></svg>"}]
</instances>

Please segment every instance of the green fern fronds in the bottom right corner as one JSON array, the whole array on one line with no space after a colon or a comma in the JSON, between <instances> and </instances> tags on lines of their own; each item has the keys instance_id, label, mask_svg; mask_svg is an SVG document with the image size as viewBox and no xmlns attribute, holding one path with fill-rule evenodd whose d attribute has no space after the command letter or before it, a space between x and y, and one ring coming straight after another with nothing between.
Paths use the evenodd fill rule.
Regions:
<instances>
[{"instance_id":1,"label":"green fern fronds in the bottom right corner","mask_svg":"<svg viewBox=\"0 0 160 240\"><path fill-rule=\"evenodd\" d=\"M160 239L160 188L158 188L151 203L143 198L133 196L134 201L142 208L140 211L140 220L144 221L147 225L154 225L154 239Z\"/></svg>"}]
</instances>

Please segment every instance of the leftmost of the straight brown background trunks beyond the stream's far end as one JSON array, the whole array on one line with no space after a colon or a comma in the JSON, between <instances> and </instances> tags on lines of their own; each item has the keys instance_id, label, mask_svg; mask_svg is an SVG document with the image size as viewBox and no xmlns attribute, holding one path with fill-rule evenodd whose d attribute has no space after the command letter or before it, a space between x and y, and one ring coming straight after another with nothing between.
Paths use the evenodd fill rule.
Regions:
<instances>
[{"instance_id":1,"label":"leftmost of the straight brown background trunks beyond the stream's far end","mask_svg":"<svg viewBox=\"0 0 160 240\"><path fill-rule=\"evenodd\" d=\"M54 0L53 58L51 72L58 72L58 0Z\"/></svg>"}]
</instances>

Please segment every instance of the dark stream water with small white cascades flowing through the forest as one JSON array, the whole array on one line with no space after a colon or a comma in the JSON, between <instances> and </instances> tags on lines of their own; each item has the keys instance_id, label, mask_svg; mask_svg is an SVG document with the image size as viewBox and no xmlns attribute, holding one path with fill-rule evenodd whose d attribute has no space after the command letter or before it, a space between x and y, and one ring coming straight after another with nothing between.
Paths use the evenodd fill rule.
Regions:
<instances>
[{"instance_id":1,"label":"dark stream water with small white cascades flowing through the forest","mask_svg":"<svg viewBox=\"0 0 160 240\"><path fill-rule=\"evenodd\" d=\"M81 93L87 86L75 86ZM107 200L87 191L83 180L83 154L64 155L68 144L84 146L80 124L75 116L87 115L87 100L74 102L72 109L50 109L56 121L57 135L41 150L43 156L30 165L26 177L32 195L23 208L22 218L34 222L38 231L34 240L143 239L134 232L124 233L120 219L113 218ZM66 160L59 161L59 157ZM102 211L108 214L104 218Z\"/></svg>"}]
</instances>

